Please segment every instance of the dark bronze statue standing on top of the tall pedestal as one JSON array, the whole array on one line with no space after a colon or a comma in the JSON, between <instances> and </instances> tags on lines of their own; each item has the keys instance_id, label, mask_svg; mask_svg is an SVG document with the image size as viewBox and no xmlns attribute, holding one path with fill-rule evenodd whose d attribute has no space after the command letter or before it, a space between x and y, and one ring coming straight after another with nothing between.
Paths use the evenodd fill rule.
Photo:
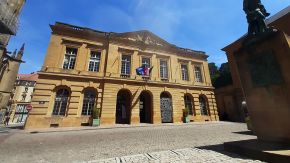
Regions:
<instances>
[{"instance_id":1,"label":"dark bronze statue standing on top of the tall pedestal","mask_svg":"<svg viewBox=\"0 0 290 163\"><path fill-rule=\"evenodd\" d=\"M270 15L262 5L261 0L244 0L245 13L249 23L248 34L258 35L269 30L265 19Z\"/></svg>"}]
</instances>

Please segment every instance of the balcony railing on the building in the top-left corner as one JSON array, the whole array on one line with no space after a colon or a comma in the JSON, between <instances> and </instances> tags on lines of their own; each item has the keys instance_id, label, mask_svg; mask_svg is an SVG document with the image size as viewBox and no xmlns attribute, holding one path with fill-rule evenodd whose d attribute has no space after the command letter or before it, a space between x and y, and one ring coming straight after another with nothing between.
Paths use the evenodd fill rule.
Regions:
<instances>
[{"instance_id":1,"label":"balcony railing on the building in the top-left corner","mask_svg":"<svg viewBox=\"0 0 290 163\"><path fill-rule=\"evenodd\" d=\"M15 35L18 28L18 15L15 9L0 3L0 33Z\"/></svg>"}]
</instances>

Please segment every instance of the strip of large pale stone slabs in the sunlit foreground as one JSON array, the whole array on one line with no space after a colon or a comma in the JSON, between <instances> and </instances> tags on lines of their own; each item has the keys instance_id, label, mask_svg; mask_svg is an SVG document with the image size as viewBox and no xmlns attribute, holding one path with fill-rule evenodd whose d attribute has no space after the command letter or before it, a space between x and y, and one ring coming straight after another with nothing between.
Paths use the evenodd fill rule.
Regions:
<instances>
[{"instance_id":1,"label":"strip of large pale stone slabs in the sunlit foreground","mask_svg":"<svg viewBox=\"0 0 290 163\"><path fill-rule=\"evenodd\" d=\"M123 156L117 158L89 161L88 163L203 163L203 162L228 162L228 163L255 163L259 160L251 160L236 154L222 154L219 152L199 149L185 148L151 152L145 154Z\"/></svg>"}]
</instances>

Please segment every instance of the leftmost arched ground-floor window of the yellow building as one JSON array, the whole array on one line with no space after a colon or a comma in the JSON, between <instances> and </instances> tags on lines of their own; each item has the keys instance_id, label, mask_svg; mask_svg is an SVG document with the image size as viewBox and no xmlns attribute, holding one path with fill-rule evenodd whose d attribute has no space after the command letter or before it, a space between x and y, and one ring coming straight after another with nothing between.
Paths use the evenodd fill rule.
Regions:
<instances>
[{"instance_id":1,"label":"leftmost arched ground-floor window of the yellow building","mask_svg":"<svg viewBox=\"0 0 290 163\"><path fill-rule=\"evenodd\" d=\"M52 115L65 115L68 98L69 91L67 89L60 89L57 91Z\"/></svg>"}]
</instances>

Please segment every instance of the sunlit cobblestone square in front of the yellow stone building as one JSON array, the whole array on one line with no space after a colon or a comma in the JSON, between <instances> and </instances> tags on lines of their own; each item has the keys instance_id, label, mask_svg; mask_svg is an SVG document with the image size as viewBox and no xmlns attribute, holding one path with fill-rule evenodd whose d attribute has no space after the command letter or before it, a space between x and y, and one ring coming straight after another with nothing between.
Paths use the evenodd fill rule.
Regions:
<instances>
[{"instance_id":1,"label":"sunlit cobblestone square in front of the yellow stone building","mask_svg":"<svg viewBox=\"0 0 290 163\"><path fill-rule=\"evenodd\" d=\"M42 132L0 133L0 162L250 162L224 152L222 144L256 138L245 124L230 122Z\"/></svg>"}]
</instances>

